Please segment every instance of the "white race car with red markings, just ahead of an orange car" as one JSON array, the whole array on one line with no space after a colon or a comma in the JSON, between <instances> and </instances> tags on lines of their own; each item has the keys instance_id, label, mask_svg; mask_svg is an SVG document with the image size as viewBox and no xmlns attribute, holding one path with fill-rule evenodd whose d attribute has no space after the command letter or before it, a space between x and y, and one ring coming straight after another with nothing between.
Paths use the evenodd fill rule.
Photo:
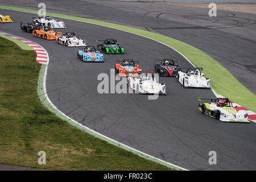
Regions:
<instances>
[{"instance_id":1,"label":"white race car with red markings, just ahead of an orange car","mask_svg":"<svg viewBox=\"0 0 256 182\"><path fill-rule=\"evenodd\" d=\"M140 94L163 94L166 95L166 84L159 84L154 78L154 73L126 72L127 85Z\"/></svg>"}]
</instances>

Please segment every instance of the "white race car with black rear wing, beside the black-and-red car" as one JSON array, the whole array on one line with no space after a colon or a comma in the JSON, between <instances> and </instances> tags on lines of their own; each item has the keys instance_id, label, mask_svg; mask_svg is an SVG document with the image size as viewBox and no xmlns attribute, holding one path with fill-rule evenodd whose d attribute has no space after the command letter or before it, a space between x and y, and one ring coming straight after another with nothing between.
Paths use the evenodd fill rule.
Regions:
<instances>
[{"instance_id":1,"label":"white race car with black rear wing, beside the black-and-red car","mask_svg":"<svg viewBox=\"0 0 256 182\"><path fill-rule=\"evenodd\" d=\"M183 68L178 67L177 80L184 88L206 88L210 89L210 78L205 78L204 73L200 70L203 68ZM182 69L187 69L186 72L182 72Z\"/></svg>"}]
</instances>

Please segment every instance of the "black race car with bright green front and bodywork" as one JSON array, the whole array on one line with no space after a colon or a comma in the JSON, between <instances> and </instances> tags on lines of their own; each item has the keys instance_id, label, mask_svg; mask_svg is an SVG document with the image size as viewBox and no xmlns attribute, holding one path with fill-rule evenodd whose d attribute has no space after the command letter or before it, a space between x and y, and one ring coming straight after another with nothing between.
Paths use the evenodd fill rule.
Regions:
<instances>
[{"instance_id":1,"label":"black race car with bright green front and bodywork","mask_svg":"<svg viewBox=\"0 0 256 182\"><path fill-rule=\"evenodd\" d=\"M114 54L114 53L125 53L125 48L119 46L117 40L106 39L106 40L96 40L97 48L100 52Z\"/></svg>"}]
</instances>

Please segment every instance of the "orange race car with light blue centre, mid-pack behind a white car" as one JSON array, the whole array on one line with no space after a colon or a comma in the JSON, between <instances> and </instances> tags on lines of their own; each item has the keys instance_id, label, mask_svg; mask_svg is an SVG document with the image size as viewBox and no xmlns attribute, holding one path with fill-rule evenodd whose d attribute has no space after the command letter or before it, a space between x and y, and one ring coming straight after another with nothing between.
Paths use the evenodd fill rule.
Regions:
<instances>
[{"instance_id":1,"label":"orange race car with light blue centre, mid-pack behind a white car","mask_svg":"<svg viewBox=\"0 0 256 182\"><path fill-rule=\"evenodd\" d=\"M115 64L115 73L119 74L119 76L138 76L137 73L127 72L142 72L141 68L139 68L139 61L125 59L123 61L115 60L115 62L122 62L121 64Z\"/></svg>"}]
</instances>

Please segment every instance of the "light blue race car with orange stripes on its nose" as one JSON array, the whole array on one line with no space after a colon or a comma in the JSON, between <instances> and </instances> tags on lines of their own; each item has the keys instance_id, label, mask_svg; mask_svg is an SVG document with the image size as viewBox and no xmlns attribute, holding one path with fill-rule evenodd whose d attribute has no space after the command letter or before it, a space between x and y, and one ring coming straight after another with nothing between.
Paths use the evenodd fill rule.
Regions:
<instances>
[{"instance_id":1,"label":"light blue race car with orange stripes on its nose","mask_svg":"<svg viewBox=\"0 0 256 182\"><path fill-rule=\"evenodd\" d=\"M79 49L83 50L79 50ZM104 56L97 51L94 46L84 46L77 48L77 57L84 62L104 62Z\"/></svg>"}]
</instances>

